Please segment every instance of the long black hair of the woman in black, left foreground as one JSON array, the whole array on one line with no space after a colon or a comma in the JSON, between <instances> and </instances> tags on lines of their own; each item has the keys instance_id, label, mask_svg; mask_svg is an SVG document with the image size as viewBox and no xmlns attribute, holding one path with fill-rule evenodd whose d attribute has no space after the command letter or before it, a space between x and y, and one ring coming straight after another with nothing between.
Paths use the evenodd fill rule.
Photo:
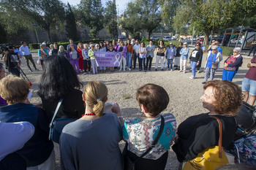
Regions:
<instances>
[{"instance_id":1,"label":"long black hair of the woman in black, left foreground","mask_svg":"<svg viewBox=\"0 0 256 170\"><path fill-rule=\"evenodd\" d=\"M44 61L38 95L48 100L59 100L67 90L81 88L75 69L64 56L52 55Z\"/></svg>"}]
</instances>

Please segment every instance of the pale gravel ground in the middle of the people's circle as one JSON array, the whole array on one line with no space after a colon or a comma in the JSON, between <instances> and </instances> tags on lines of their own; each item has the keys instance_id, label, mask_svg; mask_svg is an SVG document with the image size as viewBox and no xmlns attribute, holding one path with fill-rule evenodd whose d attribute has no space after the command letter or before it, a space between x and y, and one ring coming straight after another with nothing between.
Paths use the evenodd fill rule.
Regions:
<instances>
[{"instance_id":1,"label":"pale gravel ground in the middle of the people's circle","mask_svg":"<svg viewBox=\"0 0 256 170\"><path fill-rule=\"evenodd\" d=\"M192 49L190 49L190 52ZM37 61L37 51L32 51L34 61ZM203 63L206 61L206 53L203 55ZM227 57L224 56L223 61ZM222 68L223 61L220 64L220 69L217 70L215 74L215 80L222 79ZM238 73L233 79L233 82L241 86L241 82L244 75L248 71L246 64L249 63L249 58L244 58L244 64L239 69ZM154 68L155 57L152 61ZM30 63L31 66L31 63ZM32 68L32 66L31 66ZM37 104L40 102L40 98L37 96L37 90L39 85L40 75L42 74L42 67L37 65L39 72L29 72L26 66L26 61L22 58L22 69L26 73L26 76L32 82L31 91L33 95L31 96L31 103ZM177 70L170 71L151 71L151 72L140 72L138 69L132 71L115 71L109 72L107 70L104 74L86 74L78 75L80 81L83 85L92 80L99 80L105 83L108 87L108 101L117 102L121 107L124 117L139 117L141 115L138 103L135 99L136 89L146 83L154 83L161 85L170 96L170 104L168 104L167 109L164 112L172 112L176 117L177 125L185 120L187 117L192 115L197 115L202 112L207 112L206 109L202 107L200 96L203 95L203 82L204 72L196 74L196 79L191 80L189 76L192 75L189 72L190 64L187 63L187 73L183 74ZM154 69L151 69L154 70ZM158 67L160 70L160 66ZM201 69L202 71L203 69ZM124 147L124 142L120 142L121 148ZM170 149L169 157L167 160L166 169L178 169L178 161L176 160L176 154ZM59 163L59 153L56 154L56 162ZM58 167L59 169L59 167Z\"/></svg>"}]
</instances>

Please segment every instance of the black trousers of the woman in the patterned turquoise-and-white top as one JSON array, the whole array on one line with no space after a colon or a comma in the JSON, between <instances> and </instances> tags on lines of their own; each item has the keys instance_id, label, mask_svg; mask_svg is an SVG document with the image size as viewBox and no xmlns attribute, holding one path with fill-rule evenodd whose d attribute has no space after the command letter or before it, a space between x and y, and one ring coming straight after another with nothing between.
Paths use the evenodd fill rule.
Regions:
<instances>
[{"instance_id":1,"label":"black trousers of the woman in the patterned turquoise-and-white top","mask_svg":"<svg viewBox=\"0 0 256 170\"><path fill-rule=\"evenodd\" d=\"M132 161L136 160L138 158L137 155L135 155L133 152L130 152L128 150L127 154L129 155L129 158L132 159ZM151 160L151 159L146 159L146 158L141 158L138 163L135 165L135 169L139 170L164 170L166 166L168 158L168 151L164 153L160 158L157 160Z\"/></svg>"}]
</instances>

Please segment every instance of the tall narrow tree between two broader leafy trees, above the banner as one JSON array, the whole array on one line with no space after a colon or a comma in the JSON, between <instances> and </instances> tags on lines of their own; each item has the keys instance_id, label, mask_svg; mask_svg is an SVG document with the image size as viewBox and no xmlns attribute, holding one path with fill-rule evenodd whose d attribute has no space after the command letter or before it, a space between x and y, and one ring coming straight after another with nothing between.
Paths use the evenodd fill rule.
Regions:
<instances>
[{"instance_id":1,"label":"tall narrow tree between two broader leafy trees, above the banner","mask_svg":"<svg viewBox=\"0 0 256 170\"><path fill-rule=\"evenodd\" d=\"M116 4L114 4L113 1L108 1L106 3L104 25L112 38L116 38L118 36L116 15Z\"/></svg>"}]
</instances>

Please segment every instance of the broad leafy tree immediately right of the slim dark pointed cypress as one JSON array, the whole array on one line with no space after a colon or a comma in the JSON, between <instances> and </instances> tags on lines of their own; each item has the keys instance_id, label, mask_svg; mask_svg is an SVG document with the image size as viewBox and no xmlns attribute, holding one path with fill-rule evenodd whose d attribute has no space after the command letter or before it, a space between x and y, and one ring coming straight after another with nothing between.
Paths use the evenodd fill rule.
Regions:
<instances>
[{"instance_id":1,"label":"broad leafy tree immediately right of the slim dark pointed cypress","mask_svg":"<svg viewBox=\"0 0 256 170\"><path fill-rule=\"evenodd\" d=\"M101 0L81 0L80 22L91 28L89 36L96 38L99 31L103 28L103 7Z\"/></svg>"}]
</instances>

